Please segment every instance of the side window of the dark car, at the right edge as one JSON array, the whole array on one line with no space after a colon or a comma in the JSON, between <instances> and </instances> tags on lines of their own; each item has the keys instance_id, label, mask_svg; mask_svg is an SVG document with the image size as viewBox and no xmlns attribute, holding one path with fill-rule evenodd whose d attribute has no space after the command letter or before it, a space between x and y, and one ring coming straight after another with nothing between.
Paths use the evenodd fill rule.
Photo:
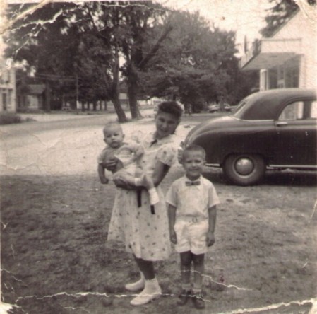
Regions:
<instances>
[{"instance_id":1,"label":"side window of the dark car, at the right edge","mask_svg":"<svg viewBox=\"0 0 317 314\"><path fill-rule=\"evenodd\" d=\"M296 101L287 105L281 112L278 120L306 120L316 119L316 101Z\"/></svg>"}]
</instances>

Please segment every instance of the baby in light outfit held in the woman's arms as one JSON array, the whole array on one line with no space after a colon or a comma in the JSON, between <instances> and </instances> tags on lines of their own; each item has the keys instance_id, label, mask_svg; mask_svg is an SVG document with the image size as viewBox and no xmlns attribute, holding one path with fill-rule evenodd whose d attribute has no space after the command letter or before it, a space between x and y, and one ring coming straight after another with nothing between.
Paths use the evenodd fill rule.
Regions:
<instances>
[{"instance_id":1,"label":"baby in light outfit held in the woman's arms","mask_svg":"<svg viewBox=\"0 0 317 314\"><path fill-rule=\"evenodd\" d=\"M98 156L98 175L102 184L107 184L109 179L105 175L105 163L109 159L116 158L116 168L112 171L113 180L124 178L128 184L145 187L150 196L150 204L159 202L159 197L152 179L143 171L141 160L143 158L143 146L136 142L124 142L124 133L118 122L107 122L104 129L104 142L107 146Z\"/></svg>"}]
</instances>

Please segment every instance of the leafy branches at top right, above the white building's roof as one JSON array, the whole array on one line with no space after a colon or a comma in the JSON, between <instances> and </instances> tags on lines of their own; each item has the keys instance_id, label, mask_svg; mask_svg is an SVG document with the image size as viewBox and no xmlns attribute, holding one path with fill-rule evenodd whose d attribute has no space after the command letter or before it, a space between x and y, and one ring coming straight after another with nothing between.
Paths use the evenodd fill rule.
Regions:
<instances>
[{"instance_id":1,"label":"leafy branches at top right, above the white building's roof","mask_svg":"<svg viewBox=\"0 0 317 314\"><path fill-rule=\"evenodd\" d=\"M270 13L265 17L267 25L261 30L263 37L271 37L275 31L283 25L299 6L294 0L269 0L274 4ZM309 5L316 5L316 0L306 0Z\"/></svg>"}]
</instances>

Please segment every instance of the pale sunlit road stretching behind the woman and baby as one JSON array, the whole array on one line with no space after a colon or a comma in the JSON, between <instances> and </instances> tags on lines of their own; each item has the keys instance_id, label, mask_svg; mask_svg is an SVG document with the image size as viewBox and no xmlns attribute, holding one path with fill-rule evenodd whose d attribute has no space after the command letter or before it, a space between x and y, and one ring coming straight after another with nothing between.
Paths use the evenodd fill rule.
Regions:
<instances>
[{"instance_id":1,"label":"pale sunlit road stretching behind the woman and baby","mask_svg":"<svg viewBox=\"0 0 317 314\"><path fill-rule=\"evenodd\" d=\"M151 112L151 111L150 111ZM149 112L143 112L143 116ZM2 175L69 175L95 172L97 154L104 147L102 127L115 114L91 115L52 122L25 122L0 127ZM153 117L122 124L126 137L153 129ZM196 122L192 122L196 124ZM177 141L190 128L177 130Z\"/></svg>"}]
</instances>

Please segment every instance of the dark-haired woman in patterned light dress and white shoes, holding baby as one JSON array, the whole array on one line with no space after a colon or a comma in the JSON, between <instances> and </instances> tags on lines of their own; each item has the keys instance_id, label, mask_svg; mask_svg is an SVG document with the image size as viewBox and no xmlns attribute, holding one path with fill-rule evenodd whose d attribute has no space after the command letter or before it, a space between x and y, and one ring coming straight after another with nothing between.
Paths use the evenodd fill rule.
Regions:
<instances>
[{"instance_id":1,"label":"dark-haired woman in patterned light dress and white shoes, holding baby","mask_svg":"<svg viewBox=\"0 0 317 314\"><path fill-rule=\"evenodd\" d=\"M143 289L131 301L134 306L148 303L162 293L155 278L153 262L169 257L170 243L167 209L160 183L177 156L172 134L180 122L181 114L181 107L176 102L161 103L155 116L155 131L136 138L144 146L143 169L152 176L160 202L151 208L146 190L137 190L137 187L128 185L124 178L115 181L121 189L114 200L108 240L123 241L140 269L140 279L133 284L126 284L129 291ZM112 170L115 162L109 161L105 166Z\"/></svg>"}]
</instances>

